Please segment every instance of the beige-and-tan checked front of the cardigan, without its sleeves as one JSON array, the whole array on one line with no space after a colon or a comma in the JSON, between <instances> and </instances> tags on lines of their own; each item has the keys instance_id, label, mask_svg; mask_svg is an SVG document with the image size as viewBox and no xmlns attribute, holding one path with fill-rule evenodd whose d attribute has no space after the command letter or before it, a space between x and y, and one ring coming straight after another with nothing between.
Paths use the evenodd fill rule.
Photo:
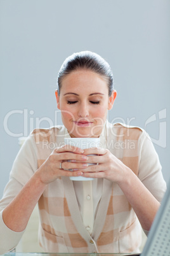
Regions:
<instances>
[{"instance_id":1,"label":"beige-and-tan checked front of the cardigan, without its sleeves","mask_svg":"<svg viewBox=\"0 0 170 256\"><path fill-rule=\"evenodd\" d=\"M103 147L138 175L145 132L121 124L107 123L105 128ZM51 153L49 146L42 150L42 144L50 145L56 141L55 146L60 146L63 134L67 136L64 127L53 128L50 132L34 131L39 166ZM137 252L140 246L141 232L136 215L122 190L111 181L103 180L103 195L91 236L82 223L69 178L58 178L49 184L39 200L39 210L40 243L48 252Z\"/></svg>"}]
</instances>

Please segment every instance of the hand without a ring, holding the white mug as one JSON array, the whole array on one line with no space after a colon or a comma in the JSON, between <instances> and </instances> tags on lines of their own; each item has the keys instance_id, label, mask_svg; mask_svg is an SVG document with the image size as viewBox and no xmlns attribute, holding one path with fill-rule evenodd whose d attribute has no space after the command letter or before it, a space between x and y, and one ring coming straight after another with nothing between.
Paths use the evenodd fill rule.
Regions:
<instances>
[{"instance_id":1,"label":"hand without a ring, holding the white mug","mask_svg":"<svg viewBox=\"0 0 170 256\"><path fill-rule=\"evenodd\" d=\"M106 178L115 183L121 183L127 171L131 171L129 167L117 159L108 149L87 148L84 150L84 155L91 155L88 156L86 162L95 163L95 165L89 165L86 169L82 170L83 176L86 178Z\"/></svg>"}]
</instances>

